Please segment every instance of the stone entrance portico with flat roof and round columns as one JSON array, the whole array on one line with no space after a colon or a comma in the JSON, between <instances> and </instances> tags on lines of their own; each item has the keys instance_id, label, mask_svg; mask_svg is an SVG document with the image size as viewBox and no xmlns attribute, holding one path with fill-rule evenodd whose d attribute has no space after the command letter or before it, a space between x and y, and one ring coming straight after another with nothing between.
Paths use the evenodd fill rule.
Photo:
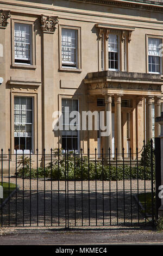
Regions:
<instances>
[{"instance_id":1,"label":"stone entrance portico with flat roof and round columns","mask_svg":"<svg viewBox=\"0 0 163 256\"><path fill-rule=\"evenodd\" d=\"M152 118L153 112L155 117L161 112L161 75L102 71L87 74L84 83L87 94L94 97L93 106L98 97L104 97L103 110L112 113L111 132L101 143L105 154L109 154L110 148L113 158L116 150L121 160L122 149L128 157L131 148L136 157L136 148L142 149L144 139L147 142L160 134L160 125L153 124Z\"/></svg>"}]
</instances>

